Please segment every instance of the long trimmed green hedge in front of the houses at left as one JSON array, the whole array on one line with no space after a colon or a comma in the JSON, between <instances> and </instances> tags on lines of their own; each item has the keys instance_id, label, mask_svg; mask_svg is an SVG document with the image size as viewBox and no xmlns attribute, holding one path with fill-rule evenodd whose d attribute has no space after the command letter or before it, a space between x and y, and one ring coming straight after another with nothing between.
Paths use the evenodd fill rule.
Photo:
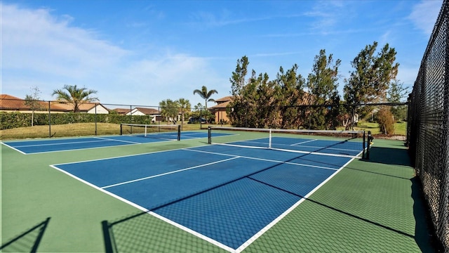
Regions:
<instances>
[{"instance_id":1,"label":"long trimmed green hedge in front of the houses at left","mask_svg":"<svg viewBox=\"0 0 449 253\"><path fill-rule=\"evenodd\" d=\"M32 126L32 113L22 112L0 112L0 130L13 129L17 127ZM118 115L118 114L89 114L79 112L52 113L50 124L71 124L71 123L133 123L151 124L151 117L147 115ZM34 126L48 125L48 113L34 113Z\"/></svg>"}]
</instances>

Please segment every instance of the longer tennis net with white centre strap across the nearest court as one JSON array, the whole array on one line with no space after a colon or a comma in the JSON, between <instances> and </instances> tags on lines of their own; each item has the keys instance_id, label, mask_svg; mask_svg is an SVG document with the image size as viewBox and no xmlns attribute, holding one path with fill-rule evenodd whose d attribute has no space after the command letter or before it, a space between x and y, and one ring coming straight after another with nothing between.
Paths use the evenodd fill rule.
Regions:
<instances>
[{"instance_id":1,"label":"longer tennis net with white centre strap across the nearest court","mask_svg":"<svg viewBox=\"0 0 449 253\"><path fill-rule=\"evenodd\" d=\"M220 139L215 142L215 138L213 140L214 133L223 131L239 135L239 137L232 142L223 142ZM367 140L365 131L253 129L225 126L209 126L208 128L208 143L210 144L368 159Z\"/></svg>"}]
</instances>

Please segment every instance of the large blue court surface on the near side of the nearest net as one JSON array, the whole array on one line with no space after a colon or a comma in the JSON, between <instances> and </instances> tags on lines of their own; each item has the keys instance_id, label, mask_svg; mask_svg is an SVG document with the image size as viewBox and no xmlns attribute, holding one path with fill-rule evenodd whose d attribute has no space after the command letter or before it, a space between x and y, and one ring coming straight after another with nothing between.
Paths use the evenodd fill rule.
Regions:
<instances>
[{"instance_id":1,"label":"large blue court surface on the near side of the nearest net","mask_svg":"<svg viewBox=\"0 0 449 253\"><path fill-rule=\"evenodd\" d=\"M52 167L233 251L248 246L350 160L205 145Z\"/></svg>"}]
</instances>

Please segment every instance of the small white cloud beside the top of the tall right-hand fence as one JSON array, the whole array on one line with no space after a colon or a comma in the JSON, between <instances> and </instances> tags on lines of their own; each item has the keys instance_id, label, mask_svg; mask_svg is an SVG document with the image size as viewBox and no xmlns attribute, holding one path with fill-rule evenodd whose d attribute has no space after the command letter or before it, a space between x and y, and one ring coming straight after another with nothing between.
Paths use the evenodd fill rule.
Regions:
<instances>
[{"instance_id":1,"label":"small white cloud beside the top of the tall right-hand fence","mask_svg":"<svg viewBox=\"0 0 449 253\"><path fill-rule=\"evenodd\" d=\"M436 18L441 9L441 0L423 0L420 4L413 6L413 11L408 18L412 20L413 25L425 34L431 34L434 29Z\"/></svg>"}]
</instances>

